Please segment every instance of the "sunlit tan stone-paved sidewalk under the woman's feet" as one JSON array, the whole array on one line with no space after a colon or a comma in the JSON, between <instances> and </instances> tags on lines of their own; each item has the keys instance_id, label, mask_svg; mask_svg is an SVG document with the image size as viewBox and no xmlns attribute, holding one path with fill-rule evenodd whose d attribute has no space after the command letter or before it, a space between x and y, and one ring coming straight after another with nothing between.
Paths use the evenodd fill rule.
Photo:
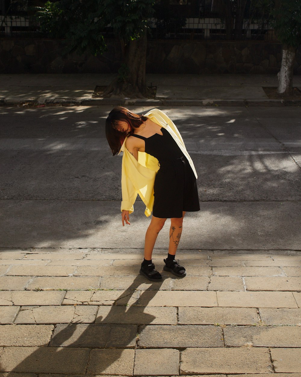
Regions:
<instances>
[{"instance_id":1,"label":"sunlit tan stone-paved sidewalk under the woman's feet","mask_svg":"<svg viewBox=\"0 0 301 377\"><path fill-rule=\"evenodd\" d=\"M153 255L159 271L164 256ZM2 248L0 371L300 376L300 253L178 257L184 279L162 271L151 283L137 276L137 251Z\"/></svg>"}]
</instances>

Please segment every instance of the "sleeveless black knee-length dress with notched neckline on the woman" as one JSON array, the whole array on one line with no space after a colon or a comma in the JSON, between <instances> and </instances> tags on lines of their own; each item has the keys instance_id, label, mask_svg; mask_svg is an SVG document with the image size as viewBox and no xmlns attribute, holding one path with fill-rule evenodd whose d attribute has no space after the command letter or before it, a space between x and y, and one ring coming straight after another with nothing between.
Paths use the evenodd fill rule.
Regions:
<instances>
[{"instance_id":1,"label":"sleeveless black knee-length dress with notched neckline on the woman","mask_svg":"<svg viewBox=\"0 0 301 377\"><path fill-rule=\"evenodd\" d=\"M196 177L176 141L165 129L162 135L155 133L149 138L131 135L145 141L145 153L158 159L160 169L154 183L153 216L180 218L182 211L199 211L199 195Z\"/></svg>"}]
</instances>

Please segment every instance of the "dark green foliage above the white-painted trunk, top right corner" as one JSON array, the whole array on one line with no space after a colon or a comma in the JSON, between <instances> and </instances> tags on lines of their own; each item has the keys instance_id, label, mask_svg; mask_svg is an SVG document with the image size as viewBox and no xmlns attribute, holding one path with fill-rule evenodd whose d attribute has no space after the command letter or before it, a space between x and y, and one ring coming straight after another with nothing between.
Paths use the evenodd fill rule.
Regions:
<instances>
[{"instance_id":1,"label":"dark green foliage above the white-painted trunk, top right corner","mask_svg":"<svg viewBox=\"0 0 301 377\"><path fill-rule=\"evenodd\" d=\"M298 48L301 43L301 0L276 2L274 28L281 43Z\"/></svg>"}]
</instances>

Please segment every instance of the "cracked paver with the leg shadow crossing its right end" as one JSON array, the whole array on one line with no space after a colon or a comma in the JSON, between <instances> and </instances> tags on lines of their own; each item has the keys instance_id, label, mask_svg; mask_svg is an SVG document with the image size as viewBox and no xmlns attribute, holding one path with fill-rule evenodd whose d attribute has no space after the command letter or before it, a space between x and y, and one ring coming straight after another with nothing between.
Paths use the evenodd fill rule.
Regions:
<instances>
[{"instance_id":1,"label":"cracked paver with the leg shadow crossing its right end","mask_svg":"<svg viewBox=\"0 0 301 377\"><path fill-rule=\"evenodd\" d=\"M63 305L133 305L140 291L67 291Z\"/></svg>"}]
</instances>

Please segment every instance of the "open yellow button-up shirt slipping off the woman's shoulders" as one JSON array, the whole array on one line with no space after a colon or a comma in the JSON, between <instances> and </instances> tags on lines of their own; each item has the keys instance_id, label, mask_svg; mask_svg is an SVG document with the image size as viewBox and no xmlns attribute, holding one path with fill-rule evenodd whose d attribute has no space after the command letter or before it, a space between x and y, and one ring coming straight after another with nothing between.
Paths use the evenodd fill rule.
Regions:
<instances>
[{"instance_id":1,"label":"open yellow button-up shirt slipping off the woman's shoulders","mask_svg":"<svg viewBox=\"0 0 301 377\"><path fill-rule=\"evenodd\" d=\"M159 109L150 110L145 116L154 123L165 128L171 134L182 150L183 155L188 159L194 175L197 178L196 169L194 168L192 159L190 158L182 136L173 121ZM129 213L132 213L134 211L134 202L139 194L140 198L146 205L144 213L146 216L150 216L154 205L154 181L157 171L159 170L159 161L154 156L145 152L138 152L137 161L125 147L126 140L127 138L125 138L120 149L120 152L123 152L121 168L121 211L126 210L129 211Z\"/></svg>"}]
</instances>

